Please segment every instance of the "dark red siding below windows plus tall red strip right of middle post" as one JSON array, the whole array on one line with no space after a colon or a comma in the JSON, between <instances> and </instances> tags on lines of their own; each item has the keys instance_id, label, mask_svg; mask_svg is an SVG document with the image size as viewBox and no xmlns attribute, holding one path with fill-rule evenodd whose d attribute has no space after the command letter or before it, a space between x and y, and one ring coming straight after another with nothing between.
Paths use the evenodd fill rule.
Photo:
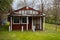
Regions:
<instances>
[{"instance_id":1,"label":"dark red siding below windows plus tall red strip right of middle post","mask_svg":"<svg viewBox=\"0 0 60 40\"><path fill-rule=\"evenodd\" d=\"M21 30L23 26L24 30L27 30L27 24L12 24L13 30ZM32 18L29 18L28 30L32 29Z\"/></svg>"}]
</instances>

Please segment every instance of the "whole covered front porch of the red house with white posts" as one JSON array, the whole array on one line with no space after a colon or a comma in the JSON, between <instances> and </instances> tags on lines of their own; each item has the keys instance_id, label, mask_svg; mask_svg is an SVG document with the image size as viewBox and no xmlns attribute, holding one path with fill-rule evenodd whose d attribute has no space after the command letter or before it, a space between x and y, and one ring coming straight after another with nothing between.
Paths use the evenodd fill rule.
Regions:
<instances>
[{"instance_id":1,"label":"whole covered front porch of the red house with white posts","mask_svg":"<svg viewBox=\"0 0 60 40\"><path fill-rule=\"evenodd\" d=\"M11 30L43 30L42 16L11 16Z\"/></svg>"}]
</instances>

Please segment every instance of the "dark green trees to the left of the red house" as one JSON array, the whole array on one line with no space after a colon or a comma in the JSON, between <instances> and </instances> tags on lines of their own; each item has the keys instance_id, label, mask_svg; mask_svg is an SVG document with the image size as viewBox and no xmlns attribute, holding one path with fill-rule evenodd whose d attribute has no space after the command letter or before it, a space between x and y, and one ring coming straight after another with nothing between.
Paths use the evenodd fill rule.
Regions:
<instances>
[{"instance_id":1,"label":"dark green trees to the left of the red house","mask_svg":"<svg viewBox=\"0 0 60 40\"><path fill-rule=\"evenodd\" d=\"M0 0L0 25L7 21L7 14L11 8L12 0Z\"/></svg>"}]
</instances>

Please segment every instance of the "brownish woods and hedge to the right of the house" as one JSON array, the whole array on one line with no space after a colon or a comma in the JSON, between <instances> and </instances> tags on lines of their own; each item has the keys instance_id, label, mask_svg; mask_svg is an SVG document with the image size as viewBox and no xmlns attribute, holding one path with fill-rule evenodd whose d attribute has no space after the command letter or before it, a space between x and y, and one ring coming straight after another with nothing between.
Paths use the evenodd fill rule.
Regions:
<instances>
[{"instance_id":1,"label":"brownish woods and hedge to the right of the house","mask_svg":"<svg viewBox=\"0 0 60 40\"><path fill-rule=\"evenodd\" d=\"M49 4L48 4L49 5ZM51 7L52 5L52 7ZM46 23L58 24L60 25L60 1L54 0L50 8L47 8L46 13Z\"/></svg>"}]
</instances>

